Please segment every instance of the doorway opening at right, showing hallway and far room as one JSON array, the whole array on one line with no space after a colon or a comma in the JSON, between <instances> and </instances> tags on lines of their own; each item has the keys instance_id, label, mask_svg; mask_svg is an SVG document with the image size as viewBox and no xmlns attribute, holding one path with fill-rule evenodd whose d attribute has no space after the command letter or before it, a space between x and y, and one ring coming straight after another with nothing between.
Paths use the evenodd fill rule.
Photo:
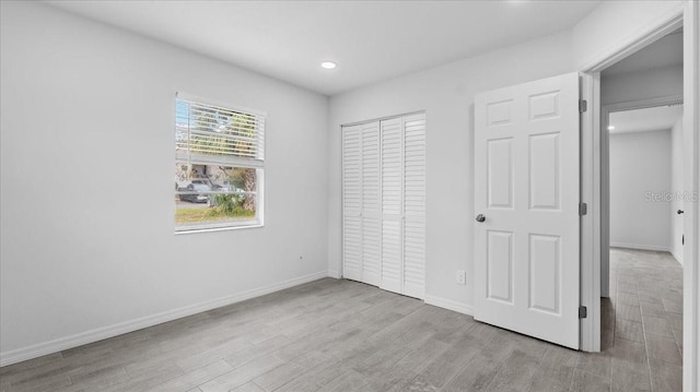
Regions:
<instances>
[{"instance_id":1,"label":"doorway opening at right, showing hallway and far room","mask_svg":"<svg viewBox=\"0 0 700 392\"><path fill-rule=\"evenodd\" d=\"M684 44L677 28L599 73L602 351L682 384ZM656 375L658 376L658 375ZM658 385L656 385L658 388Z\"/></svg>"}]
</instances>

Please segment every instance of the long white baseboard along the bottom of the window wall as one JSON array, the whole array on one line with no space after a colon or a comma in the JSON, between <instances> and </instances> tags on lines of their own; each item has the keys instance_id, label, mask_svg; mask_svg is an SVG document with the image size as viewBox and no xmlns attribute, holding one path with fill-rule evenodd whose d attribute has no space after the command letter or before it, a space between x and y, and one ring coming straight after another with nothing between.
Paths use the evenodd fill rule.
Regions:
<instances>
[{"instance_id":1,"label":"long white baseboard along the bottom of the window wall","mask_svg":"<svg viewBox=\"0 0 700 392\"><path fill-rule=\"evenodd\" d=\"M138 331L144 328L158 325L164 322L182 319L187 316L200 313L202 311L220 308L222 306L240 302L246 299L259 297L265 294L279 292L284 288L298 286L307 282L316 281L329 275L328 271L320 271L314 274L291 278L275 283L260 288L232 294L225 297L186 306L178 309L167 310L152 316L142 317L136 320L121 322L114 325L103 326L91 331L81 332L74 335L59 337L57 340L34 344L28 347L16 348L10 352L0 353L0 367L21 363L23 360L37 358L44 355L54 354L63 349L78 347L84 344L102 341L125 333Z\"/></svg>"}]
</instances>

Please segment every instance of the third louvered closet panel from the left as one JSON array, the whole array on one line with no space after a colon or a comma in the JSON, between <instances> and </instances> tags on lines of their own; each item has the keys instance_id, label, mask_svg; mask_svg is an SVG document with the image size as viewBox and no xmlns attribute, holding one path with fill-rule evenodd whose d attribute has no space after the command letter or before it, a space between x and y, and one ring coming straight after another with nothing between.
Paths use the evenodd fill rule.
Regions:
<instances>
[{"instance_id":1,"label":"third louvered closet panel from the left","mask_svg":"<svg viewBox=\"0 0 700 392\"><path fill-rule=\"evenodd\" d=\"M402 280L402 119L384 120L382 130L382 284L401 293Z\"/></svg>"}]
</instances>

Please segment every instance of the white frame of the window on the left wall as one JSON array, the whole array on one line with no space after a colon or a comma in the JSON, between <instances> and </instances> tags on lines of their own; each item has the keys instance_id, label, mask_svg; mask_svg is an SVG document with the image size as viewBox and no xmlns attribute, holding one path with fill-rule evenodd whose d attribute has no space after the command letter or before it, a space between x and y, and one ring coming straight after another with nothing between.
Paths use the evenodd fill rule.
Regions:
<instances>
[{"instance_id":1,"label":"white frame of the window on the left wall","mask_svg":"<svg viewBox=\"0 0 700 392\"><path fill-rule=\"evenodd\" d=\"M175 134L177 129L176 118L177 118L177 100L188 100L201 105L208 105L213 107L225 108L226 110L241 112L245 115L252 115L258 118L262 118L264 120L267 118L267 114L260 110L249 109L246 107L231 105L226 103L215 102L209 98L201 98L196 95L177 92L175 93L174 104L174 114L173 114L173 141L176 143ZM265 154L266 149L266 138L265 138L265 127L262 128L262 136L261 136L261 150L262 154ZM176 144L175 144L176 145ZM189 157L189 153L187 153L187 164L189 165L212 165L212 162L207 161L198 161L191 159ZM183 163L185 159L182 157L178 158L177 152L175 152L173 156L173 164L171 167L175 167L178 163ZM173 226L175 229L175 235L180 234L192 234L192 233L208 233L208 231L221 231L221 230L232 230L232 229L242 229L242 228L254 228L254 227L262 227L265 226L265 156L261 159L252 159L246 157L237 157L232 156L230 159L224 162L218 162L218 165L226 166L226 167L240 167L240 168L253 168L256 169L256 192L255 192L255 211L256 217L252 219L240 219L240 221L229 221L229 222L212 222L212 223L200 223L200 224L190 224L190 225L177 225L175 222L175 215L173 215ZM191 180L191 179L190 179ZM177 195L177 189L175 190L175 195ZM174 202L173 212L176 212L177 205Z\"/></svg>"}]
</instances>

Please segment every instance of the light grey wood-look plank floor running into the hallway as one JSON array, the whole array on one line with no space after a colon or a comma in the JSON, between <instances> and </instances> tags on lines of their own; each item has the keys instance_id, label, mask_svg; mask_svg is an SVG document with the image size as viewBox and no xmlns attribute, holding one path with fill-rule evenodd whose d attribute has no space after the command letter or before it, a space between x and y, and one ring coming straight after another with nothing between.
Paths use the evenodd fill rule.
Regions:
<instances>
[{"instance_id":1,"label":"light grey wood-look plank floor running into the hallway","mask_svg":"<svg viewBox=\"0 0 700 392\"><path fill-rule=\"evenodd\" d=\"M1 391L680 391L681 282L615 249L604 352L584 354L324 278L3 367Z\"/></svg>"}]
</instances>

